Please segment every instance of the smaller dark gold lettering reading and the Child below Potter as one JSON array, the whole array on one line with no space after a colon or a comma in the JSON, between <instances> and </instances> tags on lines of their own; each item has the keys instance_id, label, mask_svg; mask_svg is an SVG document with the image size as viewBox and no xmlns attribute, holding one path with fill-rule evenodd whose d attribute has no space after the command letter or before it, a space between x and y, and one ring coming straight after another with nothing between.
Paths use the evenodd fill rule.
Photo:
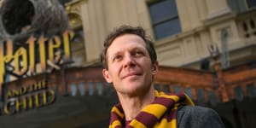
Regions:
<instances>
[{"instance_id":1,"label":"smaller dark gold lettering reading and the Child below Potter","mask_svg":"<svg viewBox=\"0 0 256 128\"><path fill-rule=\"evenodd\" d=\"M7 101L3 106L3 114L9 115L32 108L44 107L55 101L55 91L48 89L45 80L9 90L6 96Z\"/></svg>"}]
</instances>

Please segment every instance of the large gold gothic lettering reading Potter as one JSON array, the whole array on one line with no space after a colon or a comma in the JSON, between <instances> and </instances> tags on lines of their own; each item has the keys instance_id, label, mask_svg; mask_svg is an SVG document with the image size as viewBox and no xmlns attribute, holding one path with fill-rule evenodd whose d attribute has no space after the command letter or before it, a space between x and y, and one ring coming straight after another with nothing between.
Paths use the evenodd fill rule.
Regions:
<instances>
[{"instance_id":1,"label":"large gold gothic lettering reading Potter","mask_svg":"<svg viewBox=\"0 0 256 128\"><path fill-rule=\"evenodd\" d=\"M73 32L64 32L62 37L28 38L24 44L14 44L11 40L0 43L0 92L7 74L20 79L36 73L36 65L45 72L49 67L57 67L71 57L70 40Z\"/></svg>"}]
</instances>

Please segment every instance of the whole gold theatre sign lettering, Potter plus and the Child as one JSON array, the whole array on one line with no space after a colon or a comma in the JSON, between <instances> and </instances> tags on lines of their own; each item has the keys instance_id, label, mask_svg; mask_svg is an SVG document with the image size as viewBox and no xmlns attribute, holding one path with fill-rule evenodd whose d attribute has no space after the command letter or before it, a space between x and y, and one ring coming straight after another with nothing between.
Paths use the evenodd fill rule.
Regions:
<instances>
[{"instance_id":1,"label":"whole gold theatre sign lettering, Potter plus and the Child","mask_svg":"<svg viewBox=\"0 0 256 128\"><path fill-rule=\"evenodd\" d=\"M5 114L20 112L20 109L38 108L54 101L55 93L48 89L47 79L32 85L16 85L4 90L12 79L24 79L38 73L50 73L61 64L71 60L70 41L73 32L63 32L53 38L34 38L25 43L6 40L0 43L0 102ZM1 108L1 106L0 106Z\"/></svg>"}]
</instances>

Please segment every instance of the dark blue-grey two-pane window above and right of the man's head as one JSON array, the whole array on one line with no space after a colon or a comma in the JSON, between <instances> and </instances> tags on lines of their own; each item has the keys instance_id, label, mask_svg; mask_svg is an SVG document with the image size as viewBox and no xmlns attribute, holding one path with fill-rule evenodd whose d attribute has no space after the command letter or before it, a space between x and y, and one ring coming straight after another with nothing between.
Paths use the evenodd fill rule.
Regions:
<instances>
[{"instance_id":1,"label":"dark blue-grey two-pane window above and right of the man's head","mask_svg":"<svg viewBox=\"0 0 256 128\"><path fill-rule=\"evenodd\" d=\"M148 5L154 38L166 38L181 32L175 0L160 0Z\"/></svg>"}]
</instances>

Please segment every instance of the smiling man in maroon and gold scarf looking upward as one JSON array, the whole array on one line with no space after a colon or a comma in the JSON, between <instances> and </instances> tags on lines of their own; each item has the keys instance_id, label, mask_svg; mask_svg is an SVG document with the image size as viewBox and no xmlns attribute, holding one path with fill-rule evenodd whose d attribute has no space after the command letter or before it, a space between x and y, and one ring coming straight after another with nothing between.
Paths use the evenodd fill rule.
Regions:
<instances>
[{"instance_id":1,"label":"smiling man in maroon and gold scarf looking upward","mask_svg":"<svg viewBox=\"0 0 256 128\"><path fill-rule=\"evenodd\" d=\"M109 127L224 127L217 113L193 107L188 96L154 90L159 65L154 45L142 27L120 26L110 33L104 42L102 63L103 77L119 97Z\"/></svg>"}]
</instances>

